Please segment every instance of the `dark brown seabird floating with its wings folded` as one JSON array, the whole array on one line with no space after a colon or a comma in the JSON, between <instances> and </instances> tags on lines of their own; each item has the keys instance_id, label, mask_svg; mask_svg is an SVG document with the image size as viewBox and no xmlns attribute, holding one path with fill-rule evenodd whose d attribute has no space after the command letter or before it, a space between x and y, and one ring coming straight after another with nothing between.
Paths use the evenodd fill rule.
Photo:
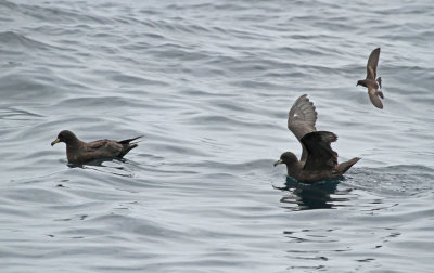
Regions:
<instances>
[{"instance_id":1,"label":"dark brown seabird floating with its wings folded","mask_svg":"<svg viewBox=\"0 0 434 273\"><path fill-rule=\"evenodd\" d=\"M131 143L141 136L133 139L113 141L98 140L86 143L80 141L72 131L63 130L58 138L51 142L51 146L55 143L64 142L66 144L66 157L71 164L85 164L98 159L113 159L124 157L131 148L138 146Z\"/></svg>"}]
</instances>

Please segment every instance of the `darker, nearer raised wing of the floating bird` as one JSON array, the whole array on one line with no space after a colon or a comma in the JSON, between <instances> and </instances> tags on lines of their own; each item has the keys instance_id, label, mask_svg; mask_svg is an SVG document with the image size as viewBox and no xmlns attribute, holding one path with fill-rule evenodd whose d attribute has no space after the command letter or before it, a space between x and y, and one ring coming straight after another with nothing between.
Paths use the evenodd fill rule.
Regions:
<instances>
[{"instance_id":1,"label":"darker, nearer raised wing of the floating bird","mask_svg":"<svg viewBox=\"0 0 434 273\"><path fill-rule=\"evenodd\" d=\"M330 143L337 140L337 135L328 131L317 131L302 138L308 156L304 169L307 171L333 170L337 165L337 153Z\"/></svg>"}]
</instances>

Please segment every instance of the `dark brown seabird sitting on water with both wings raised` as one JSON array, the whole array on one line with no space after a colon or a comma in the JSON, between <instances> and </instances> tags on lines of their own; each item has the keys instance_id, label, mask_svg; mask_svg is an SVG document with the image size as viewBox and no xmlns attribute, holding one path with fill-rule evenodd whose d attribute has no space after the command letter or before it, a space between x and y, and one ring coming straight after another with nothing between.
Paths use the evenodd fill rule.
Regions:
<instances>
[{"instance_id":1,"label":"dark brown seabird sitting on water with both wings raised","mask_svg":"<svg viewBox=\"0 0 434 273\"><path fill-rule=\"evenodd\" d=\"M302 95L295 101L288 118L288 129L294 133L303 146L302 158L298 161L293 153L285 152L275 162L275 167L285 164L288 174L303 183L337 179L360 159L355 157L337 164L337 153L330 146L337 136L332 132L317 131L316 121L317 112L314 103L306 94Z\"/></svg>"}]
</instances>

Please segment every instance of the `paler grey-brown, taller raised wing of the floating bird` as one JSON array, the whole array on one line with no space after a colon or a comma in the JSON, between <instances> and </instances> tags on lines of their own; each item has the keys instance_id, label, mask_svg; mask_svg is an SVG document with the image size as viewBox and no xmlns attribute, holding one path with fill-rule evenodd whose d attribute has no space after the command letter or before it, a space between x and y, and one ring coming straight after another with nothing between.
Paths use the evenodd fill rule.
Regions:
<instances>
[{"instance_id":1,"label":"paler grey-brown, taller raised wing of the floating bird","mask_svg":"<svg viewBox=\"0 0 434 273\"><path fill-rule=\"evenodd\" d=\"M309 101L307 94L298 98L292 105L288 118L288 129L297 138L298 141L309 132L315 132L315 122L317 121L317 112L315 110L314 103ZM307 159L307 151L303 142L302 161Z\"/></svg>"}]
</instances>

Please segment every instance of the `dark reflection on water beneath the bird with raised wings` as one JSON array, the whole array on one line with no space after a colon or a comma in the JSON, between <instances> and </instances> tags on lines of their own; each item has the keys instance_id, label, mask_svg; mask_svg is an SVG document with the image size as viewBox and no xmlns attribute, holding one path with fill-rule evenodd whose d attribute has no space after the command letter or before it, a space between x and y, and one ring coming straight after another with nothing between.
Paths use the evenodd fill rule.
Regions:
<instances>
[{"instance_id":1,"label":"dark reflection on water beneath the bird with raised wings","mask_svg":"<svg viewBox=\"0 0 434 273\"><path fill-rule=\"evenodd\" d=\"M340 194L340 191L336 191L337 184L343 180L344 178L341 177L339 180L324 180L314 184L305 184L286 177L284 186L275 188L291 193L291 195L282 197L280 202L288 204L286 208L292 210L334 208L340 206L336 203L348 200L347 198L331 196Z\"/></svg>"}]
</instances>

